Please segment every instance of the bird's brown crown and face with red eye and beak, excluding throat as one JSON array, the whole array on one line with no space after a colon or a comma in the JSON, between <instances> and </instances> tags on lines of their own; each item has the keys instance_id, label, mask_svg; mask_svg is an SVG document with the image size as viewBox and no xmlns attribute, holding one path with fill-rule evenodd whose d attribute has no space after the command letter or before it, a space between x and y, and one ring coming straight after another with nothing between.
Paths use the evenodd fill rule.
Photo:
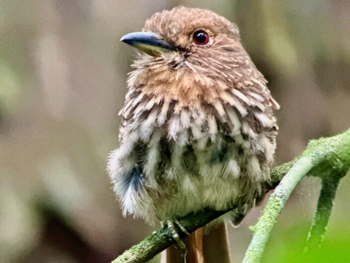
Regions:
<instances>
[{"instance_id":1,"label":"bird's brown crown and face with red eye and beak, excluding throat","mask_svg":"<svg viewBox=\"0 0 350 263\"><path fill-rule=\"evenodd\" d=\"M121 41L154 57L168 52L191 56L210 53L223 44L234 45L239 33L234 24L212 11L179 6L155 13L142 32L127 34Z\"/></svg>"}]
</instances>

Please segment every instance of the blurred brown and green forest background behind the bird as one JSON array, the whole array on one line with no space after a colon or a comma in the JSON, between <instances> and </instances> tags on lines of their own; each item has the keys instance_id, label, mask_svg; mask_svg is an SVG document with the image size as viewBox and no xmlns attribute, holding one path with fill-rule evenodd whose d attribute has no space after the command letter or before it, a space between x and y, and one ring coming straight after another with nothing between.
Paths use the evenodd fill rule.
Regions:
<instances>
[{"instance_id":1,"label":"blurred brown and green forest background behind the bird","mask_svg":"<svg viewBox=\"0 0 350 263\"><path fill-rule=\"evenodd\" d=\"M122 217L105 168L135 54L119 38L179 4L238 24L281 105L277 164L350 127L348 0L1 0L1 263L108 263L157 229ZM314 262L350 262L349 189L350 175ZM265 263L298 262L318 190L298 185ZM234 263L260 209L229 230Z\"/></svg>"}]
</instances>

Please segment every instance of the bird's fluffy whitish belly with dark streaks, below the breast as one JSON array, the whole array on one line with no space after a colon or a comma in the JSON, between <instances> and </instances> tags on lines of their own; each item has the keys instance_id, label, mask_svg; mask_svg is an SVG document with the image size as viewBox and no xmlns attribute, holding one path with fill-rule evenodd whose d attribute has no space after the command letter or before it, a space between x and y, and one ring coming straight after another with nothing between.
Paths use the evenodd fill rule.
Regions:
<instances>
[{"instance_id":1,"label":"bird's fluffy whitish belly with dark streaks, below the breast","mask_svg":"<svg viewBox=\"0 0 350 263\"><path fill-rule=\"evenodd\" d=\"M156 127L142 140L131 129L109 161L124 214L150 223L205 208L238 207L245 214L270 178L275 152L268 133L245 126L228 133L220 126L206 132L194 125L173 137Z\"/></svg>"}]
</instances>

